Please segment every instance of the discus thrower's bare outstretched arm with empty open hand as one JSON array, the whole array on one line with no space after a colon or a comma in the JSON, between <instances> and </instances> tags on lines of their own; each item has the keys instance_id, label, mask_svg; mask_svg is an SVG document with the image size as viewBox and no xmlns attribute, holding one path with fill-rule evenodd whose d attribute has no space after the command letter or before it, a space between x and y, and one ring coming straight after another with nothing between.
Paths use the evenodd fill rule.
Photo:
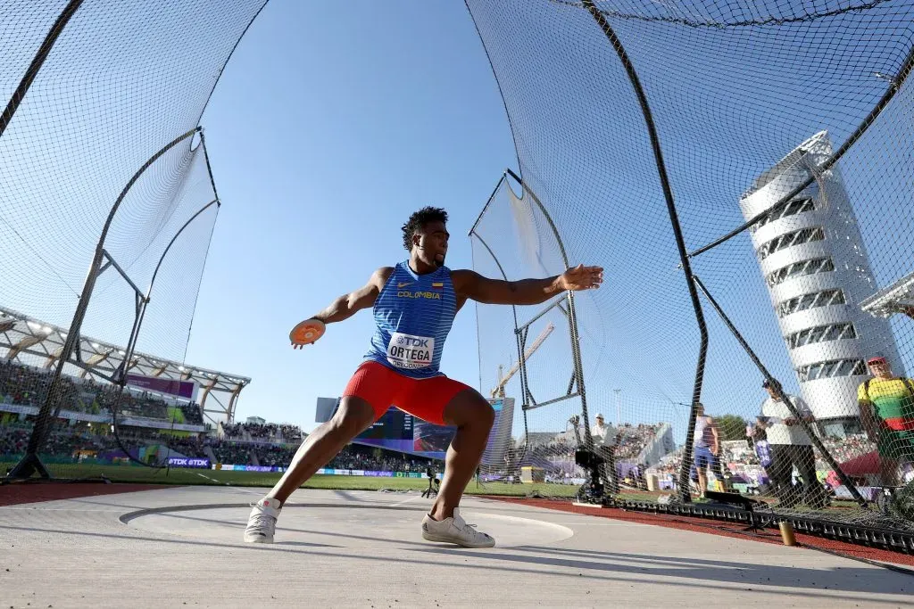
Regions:
<instances>
[{"instance_id":1,"label":"discus thrower's bare outstretched arm with empty open hand","mask_svg":"<svg viewBox=\"0 0 914 609\"><path fill-rule=\"evenodd\" d=\"M535 305L569 289L599 288L603 268L579 265L555 277L518 281L486 278L472 270L455 270L451 280L454 291L465 299L486 304Z\"/></svg>"}]
</instances>

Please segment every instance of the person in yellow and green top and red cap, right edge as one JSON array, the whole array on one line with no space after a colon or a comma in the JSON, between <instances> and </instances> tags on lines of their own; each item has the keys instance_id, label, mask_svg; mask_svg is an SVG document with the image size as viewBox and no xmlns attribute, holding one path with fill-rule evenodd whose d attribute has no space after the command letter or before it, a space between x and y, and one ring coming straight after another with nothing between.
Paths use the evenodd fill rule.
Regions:
<instances>
[{"instance_id":1,"label":"person in yellow and green top and red cap, right edge","mask_svg":"<svg viewBox=\"0 0 914 609\"><path fill-rule=\"evenodd\" d=\"M860 423L876 443L883 484L898 486L898 466L914 462L914 383L895 376L884 357L870 358L866 365L873 378L857 387Z\"/></svg>"}]
</instances>

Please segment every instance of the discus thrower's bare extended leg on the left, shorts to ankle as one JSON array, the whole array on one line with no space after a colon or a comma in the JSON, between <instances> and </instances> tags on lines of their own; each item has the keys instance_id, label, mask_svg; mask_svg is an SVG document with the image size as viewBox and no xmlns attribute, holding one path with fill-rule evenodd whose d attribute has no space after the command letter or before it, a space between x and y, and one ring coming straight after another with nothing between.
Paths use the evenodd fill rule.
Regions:
<instances>
[{"instance_id":1,"label":"discus thrower's bare extended leg on the left, shorts to ankle","mask_svg":"<svg viewBox=\"0 0 914 609\"><path fill-rule=\"evenodd\" d=\"M267 497L285 503L296 488L329 463L343 446L374 423L375 418L371 404L355 396L344 397L334 417L319 425L298 447L289 469Z\"/></svg>"}]
</instances>

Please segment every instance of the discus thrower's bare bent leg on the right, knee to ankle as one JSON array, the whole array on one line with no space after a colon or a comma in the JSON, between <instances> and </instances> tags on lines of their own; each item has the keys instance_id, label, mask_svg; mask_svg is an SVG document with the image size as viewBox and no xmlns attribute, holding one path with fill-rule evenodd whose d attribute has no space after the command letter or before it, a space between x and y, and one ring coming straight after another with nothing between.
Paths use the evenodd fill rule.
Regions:
<instances>
[{"instance_id":1,"label":"discus thrower's bare bent leg on the right, knee to ankle","mask_svg":"<svg viewBox=\"0 0 914 609\"><path fill-rule=\"evenodd\" d=\"M492 406L473 389L456 394L444 407L444 422L457 425L457 434L448 446L441 489L429 510L431 518L444 520L453 516L463 489L473 479L483 458L494 419Z\"/></svg>"}]
</instances>

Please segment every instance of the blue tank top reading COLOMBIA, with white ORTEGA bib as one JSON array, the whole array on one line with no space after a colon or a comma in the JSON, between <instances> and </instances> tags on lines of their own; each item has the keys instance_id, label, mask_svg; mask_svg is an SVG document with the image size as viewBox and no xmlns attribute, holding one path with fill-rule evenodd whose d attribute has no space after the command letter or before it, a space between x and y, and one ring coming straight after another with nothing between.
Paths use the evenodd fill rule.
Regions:
<instances>
[{"instance_id":1,"label":"blue tank top reading COLOMBIA, with white ORTEGA bib","mask_svg":"<svg viewBox=\"0 0 914 609\"><path fill-rule=\"evenodd\" d=\"M457 313L450 268L417 275L409 260L400 262L373 312L376 329L366 360L414 379L441 375L441 352Z\"/></svg>"}]
</instances>

